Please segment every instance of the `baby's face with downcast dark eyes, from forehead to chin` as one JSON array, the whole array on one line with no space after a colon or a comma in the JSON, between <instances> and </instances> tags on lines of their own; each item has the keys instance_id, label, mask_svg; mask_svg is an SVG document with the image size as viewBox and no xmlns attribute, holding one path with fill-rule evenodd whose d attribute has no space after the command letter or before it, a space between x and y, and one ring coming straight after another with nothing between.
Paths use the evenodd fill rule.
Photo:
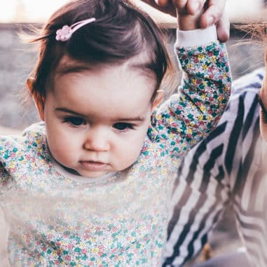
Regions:
<instances>
[{"instance_id":1,"label":"baby's face with downcast dark eyes, from forehead to chin","mask_svg":"<svg viewBox=\"0 0 267 267\"><path fill-rule=\"evenodd\" d=\"M126 64L57 73L39 111L55 160L92 178L132 165L149 127L154 88Z\"/></svg>"}]
</instances>

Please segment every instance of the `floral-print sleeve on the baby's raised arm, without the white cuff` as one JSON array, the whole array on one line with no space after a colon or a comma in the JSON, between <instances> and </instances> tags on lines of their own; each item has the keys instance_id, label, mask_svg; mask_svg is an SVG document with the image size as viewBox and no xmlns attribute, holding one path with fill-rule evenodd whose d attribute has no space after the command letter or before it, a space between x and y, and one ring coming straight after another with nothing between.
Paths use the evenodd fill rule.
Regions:
<instances>
[{"instance_id":1,"label":"floral-print sleeve on the baby's raised arm, without the white cuff","mask_svg":"<svg viewBox=\"0 0 267 267\"><path fill-rule=\"evenodd\" d=\"M177 55L182 85L153 112L149 134L167 142L168 153L179 157L217 125L230 95L231 71L226 47L219 42L179 47Z\"/></svg>"}]
</instances>

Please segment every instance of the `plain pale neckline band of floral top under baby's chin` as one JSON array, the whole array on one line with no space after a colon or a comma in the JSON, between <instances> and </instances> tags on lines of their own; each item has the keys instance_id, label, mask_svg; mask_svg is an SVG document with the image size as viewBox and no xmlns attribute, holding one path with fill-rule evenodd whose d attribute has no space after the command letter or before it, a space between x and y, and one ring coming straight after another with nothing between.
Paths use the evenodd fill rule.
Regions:
<instances>
[{"instance_id":1,"label":"plain pale neckline band of floral top under baby's chin","mask_svg":"<svg viewBox=\"0 0 267 267\"><path fill-rule=\"evenodd\" d=\"M105 182L111 182L112 180L116 179L116 175L118 172L109 172L107 174L104 174L100 177L97 178L91 178L91 177L84 177L84 176L80 176L78 174L73 174L71 172L68 172L60 163L57 162L57 160L55 160L55 158L53 157L53 155L50 153L50 149L48 147L48 144L46 142L46 149L48 151L48 156L50 157L50 161L53 165L53 167L55 167L55 170L57 170L57 172L59 172L63 177L65 177L66 179L69 179L71 181L74 182L79 182L79 183L83 183L83 184L99 184L99 183L105 183ZM113 179L111 179L111 177L114 177ZM109 179L109 181L107 181Z\"/></svg>"}]
</instances>

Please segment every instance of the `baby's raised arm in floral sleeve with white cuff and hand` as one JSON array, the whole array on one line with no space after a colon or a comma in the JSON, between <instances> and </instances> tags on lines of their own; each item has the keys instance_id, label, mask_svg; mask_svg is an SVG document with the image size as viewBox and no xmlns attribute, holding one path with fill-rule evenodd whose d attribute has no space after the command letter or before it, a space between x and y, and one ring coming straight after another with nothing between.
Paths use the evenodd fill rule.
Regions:
<instances>
[{"instance_id":1,"label":"baby's raised arm in floral sleeve with white cuff and hand","mask_svg":"<svg viewBox=\"0 0 267 267\"><path fill-rule=\"evenodd\" d=\"M216 27L200 28L205 6L200 4L191 12L189 0L173 4L179 24L175 46L182 84L153 114L152 127L168 153L179 158L217 125L230 95L231 71Z\"/></svg>"}]
</instances>

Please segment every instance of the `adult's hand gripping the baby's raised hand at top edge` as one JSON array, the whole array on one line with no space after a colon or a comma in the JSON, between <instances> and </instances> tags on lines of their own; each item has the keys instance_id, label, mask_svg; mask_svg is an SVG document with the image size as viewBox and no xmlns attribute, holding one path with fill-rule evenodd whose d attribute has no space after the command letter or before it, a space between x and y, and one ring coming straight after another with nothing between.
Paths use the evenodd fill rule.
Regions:
<instances>
[{"instance_id":1,"label":"adult's hand gripping the baby's raised hand at top edge","mask_svg":"<svg viewBox=\"0 0 267 267\"><path fill-rule=\"evenodd\" d=\"M205 11L200 15L200 27L217 25L217 35L221 42L226 42L230 34L230 22L224 12L226 0L142 0L146 4L174 17L177 13L195 15L205 4Z\"/></svg>"}]
</instances>

